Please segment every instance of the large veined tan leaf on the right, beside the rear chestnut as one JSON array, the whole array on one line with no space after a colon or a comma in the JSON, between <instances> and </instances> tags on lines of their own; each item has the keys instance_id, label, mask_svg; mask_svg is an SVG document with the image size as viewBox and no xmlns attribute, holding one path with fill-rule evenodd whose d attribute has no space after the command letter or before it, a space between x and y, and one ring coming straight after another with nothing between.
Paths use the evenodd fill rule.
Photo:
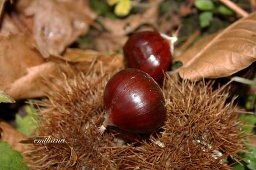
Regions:
<instances>
[{"instance_id":1,"label":"large veined tan leaf on the right, beside the rear chestnut","mask_svg":"<svg viewBox=\"0 0 256 170\"><path fill-rule=\"evenodd\" d=\"M185 53L179 74L195 81L230 76L256 61L256 13L240 19L218 34L198 53ZM179 59L180 58L180 59Z\"/></svg>"}]
</instances>

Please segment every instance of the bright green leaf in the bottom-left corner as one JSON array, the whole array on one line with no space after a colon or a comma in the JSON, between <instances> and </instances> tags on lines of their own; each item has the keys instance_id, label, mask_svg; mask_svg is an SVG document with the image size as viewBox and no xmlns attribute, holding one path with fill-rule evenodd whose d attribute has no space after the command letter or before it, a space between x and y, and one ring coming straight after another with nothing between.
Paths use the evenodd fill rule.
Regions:
<instances>
[{"instance_id":1,"label":"bright green leaf in the bottom-left corner","mask_svg":"<svg viewBox=\"0 0 256 170\"><path fill-rule=\"evenodd\" d=\"M12 150L6 142L0 142L0 169L1 170L27 170L23 157L18 151Z\"/></svg>"}]
</instances>

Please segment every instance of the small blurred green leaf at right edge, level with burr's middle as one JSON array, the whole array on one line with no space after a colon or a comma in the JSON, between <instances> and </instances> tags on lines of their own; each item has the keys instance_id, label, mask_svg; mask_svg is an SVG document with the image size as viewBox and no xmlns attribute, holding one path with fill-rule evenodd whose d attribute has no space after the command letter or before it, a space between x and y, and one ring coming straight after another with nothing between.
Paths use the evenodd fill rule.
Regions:
<instances>
[{"instance_id":1,"label":"small blurred green leaf at right edge, level with burr's middle","mask_svg":"<svg viewBox=\"0 0 256 170\"><path fill-rule=\"evenodd\" d=\"M244 123L242 131L246 134L251 134L253 132L254 125L256 124L256 116L252 114L244 114L241 115L239 119Z\"/></svg>"}]
</instances>

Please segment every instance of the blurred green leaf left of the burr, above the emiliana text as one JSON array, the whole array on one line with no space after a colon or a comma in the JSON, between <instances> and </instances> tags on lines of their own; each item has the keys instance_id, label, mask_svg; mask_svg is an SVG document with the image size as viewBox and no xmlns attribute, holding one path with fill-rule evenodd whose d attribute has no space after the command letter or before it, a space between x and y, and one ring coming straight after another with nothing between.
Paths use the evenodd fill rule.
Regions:
<instances>
[{"instance_id":1,"label":"blurred green leaf left of the burr, above the emiliana text","mask_svg":"<svg viewBox=\"0 0 256 170\"><path fill-rule=\"evenodd\" d=\"M25 117L21 117L21 115L16 114L16 123L17 123L17 131L25 134L26 136L29 136L31 134L31 131L36 128L36 122L35 119L36 116L36 109L33 108L33 105L25 106L25 110L27 115Z\"/></svg>"}]
</instances>

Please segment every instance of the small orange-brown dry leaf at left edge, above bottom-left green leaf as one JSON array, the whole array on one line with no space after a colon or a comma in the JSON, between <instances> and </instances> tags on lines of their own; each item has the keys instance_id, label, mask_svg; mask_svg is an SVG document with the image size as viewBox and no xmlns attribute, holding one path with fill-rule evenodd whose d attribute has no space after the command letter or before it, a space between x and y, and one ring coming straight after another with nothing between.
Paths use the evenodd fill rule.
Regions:
<instances>
[{"instance_id":1,"label":"small orange-brown dry leaf at left edge, above bottom-left green leaf","mask_svg":"<svg viewBox=\"0 0 256 170\"><path fill-rule=\"evenodd\" d=\"M11 125L6 122L0 121L0 134L1 140L3 142L9 143L12 146L12 149L19 152L25 151L24 145L19 143L19 141L25 139L26 136L16 131L16 129L14 129Z\"/></svg>"}]
</instances>

